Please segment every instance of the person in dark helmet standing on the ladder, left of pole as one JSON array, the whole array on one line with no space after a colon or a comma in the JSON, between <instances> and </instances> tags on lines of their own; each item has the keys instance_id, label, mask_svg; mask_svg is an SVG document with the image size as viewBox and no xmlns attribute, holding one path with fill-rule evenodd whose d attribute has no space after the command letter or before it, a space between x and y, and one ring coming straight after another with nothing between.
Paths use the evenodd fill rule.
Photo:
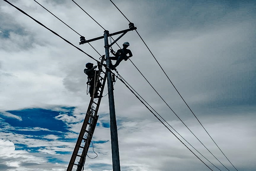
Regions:
<instances>
[{"instance_id":1,"label":"person in dark helmet standing on the ladder, left of pole","mask_svg":"<svg viewBox=\"0 0 256 171\"><path fill-rule=\"evenodd\" d=\"M86 63L85 64L85 69L84 69L84 73L88 76L87 79L87 85L89 85L89 94L90 94L90 97L93 96L93 91L94 91L94 88L95 88L95 91L94 91L94 98L101 98L98 94L98 89L101 87L101 82L98 82L97 84L97 87L95 87L95 84L96 84L96 78L97 78L97 74L98 74L98 71L96 71L95 69L97 68L97 66L93 66L93 63Z\"/></svg>"}]
</instances>

